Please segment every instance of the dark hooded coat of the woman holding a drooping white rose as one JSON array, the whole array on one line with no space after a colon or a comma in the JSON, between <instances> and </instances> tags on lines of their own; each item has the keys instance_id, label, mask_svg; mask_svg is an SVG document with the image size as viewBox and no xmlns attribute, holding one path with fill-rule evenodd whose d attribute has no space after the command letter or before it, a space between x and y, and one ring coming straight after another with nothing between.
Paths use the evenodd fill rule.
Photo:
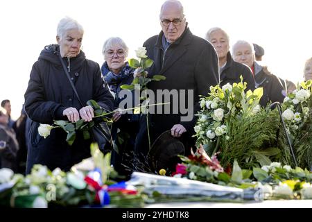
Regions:
<instances>
[{"instance_id":1,"label":"dark hooded coat of the woman holding a drooping white rose","mask_svg":"<svg viewBox=\"0 0 312 222\"><path fill-rule=\"evenodd\" d=\"M32 120L27 173L31 172L33 164L44 164L49 169L60 167L68 171L73 164L90 156L91 141L84 140L81 133L77 133L72 146L67 144L67 133L60 128L51 130L51 135L46 139L38 134L39 123L51 124L53 120L66 120L67 117L62 115L64 109L73 107L79 111L82 108L62 68L58 53L58 45L46 46L41 52L31 70L25 93L25 110ZM67 59L63 60L67 62ZM69 74L83 104L94 99L106 110L112 110L113 96L101 78L101 69L96 62L87 60L83 51L76 58L71 58Z\"/></svg>"}]
</instances>

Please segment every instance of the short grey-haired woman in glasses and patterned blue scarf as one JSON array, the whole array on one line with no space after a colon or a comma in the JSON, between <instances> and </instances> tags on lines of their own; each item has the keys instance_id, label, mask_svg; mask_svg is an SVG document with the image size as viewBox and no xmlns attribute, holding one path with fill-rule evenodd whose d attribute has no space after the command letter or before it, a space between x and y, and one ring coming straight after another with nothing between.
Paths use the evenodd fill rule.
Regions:
<instances>
[{"instance_id":1,"label":"short grey-haired woman in glasses and patterned blue scarf","mask_svg":"<svg viewBox=\"0 0 312 222\"><path fill-rule=\"evenodd\" d=\"M114 94L114 108L117 109L121 101L125 99L124 96L121 96L121 90L123 90L121 85L130 85L132 83L135 70L126 61L128 46L120 37L107 39L104 42L102 53L105 60L101 67L102 75ZM132 94L133 100L134 96ZM132 169L130 164L132 163L135 137L138 131L138 120L138 114L121 114L121 112L113 114L112 139L118 146L119 153L112 152L112 164L116 171L123 175L128 175L129 170ZM121 143L121 141L123 142Z\"/></svg>"}]
</instances>

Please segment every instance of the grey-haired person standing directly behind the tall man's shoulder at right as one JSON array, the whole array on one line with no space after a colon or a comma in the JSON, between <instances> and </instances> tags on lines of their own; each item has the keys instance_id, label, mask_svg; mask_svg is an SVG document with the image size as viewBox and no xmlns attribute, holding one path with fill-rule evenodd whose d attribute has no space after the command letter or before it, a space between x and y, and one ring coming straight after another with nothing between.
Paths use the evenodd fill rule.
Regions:
<instances>
[{"instance_id":1,"label":"grey-haired person standing directly behind the tall man's shoulder at right","mask_svg":"<svg viewBox=\"0 0 312 222\"><path fill-rule=\"evenodd\" d=\"M229 52L229 36L222 28L210 28L206 34L208 40L216 49L219 59L220 85L227 83L240 83L241 76L243 82L247 83L246 90L254 90L254 77L247 65L235 62Z\"/></svg>"}]
</instances>

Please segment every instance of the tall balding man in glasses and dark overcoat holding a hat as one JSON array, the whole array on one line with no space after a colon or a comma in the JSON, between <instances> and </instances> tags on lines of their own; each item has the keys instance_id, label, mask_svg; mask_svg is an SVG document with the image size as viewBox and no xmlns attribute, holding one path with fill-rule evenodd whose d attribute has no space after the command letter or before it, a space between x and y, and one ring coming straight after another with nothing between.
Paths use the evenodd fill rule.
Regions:
<instances>
[{"instance_id":1,"label":"tall balding man in glasses and dark overcoat holding a hat","mask_svg":"<svg viewBox=\"0 0 312 222\"><path fill-rule=\"evenodd\" d=\"M153 81L148 85L148 88L155 93L159 89L168 89L169 92L176 89L179 93L178 101L180 104L182 102L188 103L188 95L193 100L192 104L187 104L189 105L187 110L192 112L189 121L181 120L181 117L186 114L182 113L179 107L178 113L173 113L173 106L178 104L172 98L170 114L156 112L156 114L150 115L151 144L161 133L171 130L171 135L186 142L184 143L185 148L189 149L194 144L191 142L191 135L194 134L193 127L196 123L193 114L197 114L200 110L199 95L207 95L209 87L217 85L219 82L218 57L214 47L207 40L191 33L180 1L165 1L159 19L162 31L159 35L146 40L144 46L148 58L154 60L148 74L150 76L164 75L166 80ZM193 94L188 94L191 92L190 90ZM143 125L146 124L141 125L144 127ZM140 133L137 137L137 146L145 147L146 145L140 144Z\"/></svg>"}]
</instances>

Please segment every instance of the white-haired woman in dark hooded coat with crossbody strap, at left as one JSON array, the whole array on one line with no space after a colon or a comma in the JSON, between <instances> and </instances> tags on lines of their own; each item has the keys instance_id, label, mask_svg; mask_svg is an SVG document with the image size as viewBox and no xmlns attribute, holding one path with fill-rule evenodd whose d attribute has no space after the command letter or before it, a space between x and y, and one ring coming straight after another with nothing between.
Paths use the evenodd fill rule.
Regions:
<instances>
[{"instance_id":1,"label":"white-haired woman in dark hooded coat with crossbody strap, at left","mask_svg":"<svg viewBox=\"0 0 312 222\"><path fill-rule=\"evenodd\" d=\"M31 172L34 164L69 171L73 164L90 157L92 140L84 139L83 133L78 131L75 142L69 146L67 133L61 128L51 130L45 139L41 137L40 123L52 124L61 119L92 121L94 110L87 105L90 99L105 110L113 109L114 99L99 65L87 60L80 50L83 34L78 22L69 17L61 19L56 35L58 44L45 46L33 65L25 93L25 110L32 120L26 173Z\"/></svg>"}]
</instances>

